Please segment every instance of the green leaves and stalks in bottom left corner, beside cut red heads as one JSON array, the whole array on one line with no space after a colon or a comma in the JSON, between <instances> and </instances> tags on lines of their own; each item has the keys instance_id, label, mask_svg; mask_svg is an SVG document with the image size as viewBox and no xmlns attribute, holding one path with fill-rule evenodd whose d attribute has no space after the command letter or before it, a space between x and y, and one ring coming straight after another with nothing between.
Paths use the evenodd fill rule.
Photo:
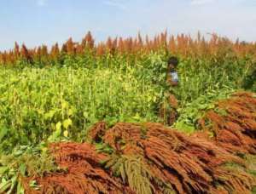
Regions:
<instances>
[{"instance_id":1,"label":"green leaves and stalks in bottom left corner, beside cut red heads","mask_svg":"<svg viewBox=\"0 0 256 194\"><path fill-rule=\"evenodd\" d=\"M23 194L22 179L25 177L43 176L55 172L58 168L53 157L50 157L44 144L38 148L20 146L12 154L0 157L0 193ZM35 181L30 184L38 188Z\"/></svg>"}]
</instances>

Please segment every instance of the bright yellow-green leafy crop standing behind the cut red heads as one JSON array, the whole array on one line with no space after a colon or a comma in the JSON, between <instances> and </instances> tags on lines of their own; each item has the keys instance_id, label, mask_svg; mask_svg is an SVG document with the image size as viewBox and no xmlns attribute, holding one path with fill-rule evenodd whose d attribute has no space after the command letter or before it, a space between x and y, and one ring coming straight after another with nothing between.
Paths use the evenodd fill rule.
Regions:
<instances>
[{"instance_id":1,"label":"bright yellow-green leafy crop standing behind the cut red heads","mask_svg":"<svg viewBox=\"0 0 256 194\"><path fill-rule=\"evenodd\" d=\"M157 121L154 104L160 98L158 88L139 81L133 71L2 71L1 150L48 138L59 140L63 135L84 140L86 129L104 119L110 124Z\"/></svg>"}]
</instances>

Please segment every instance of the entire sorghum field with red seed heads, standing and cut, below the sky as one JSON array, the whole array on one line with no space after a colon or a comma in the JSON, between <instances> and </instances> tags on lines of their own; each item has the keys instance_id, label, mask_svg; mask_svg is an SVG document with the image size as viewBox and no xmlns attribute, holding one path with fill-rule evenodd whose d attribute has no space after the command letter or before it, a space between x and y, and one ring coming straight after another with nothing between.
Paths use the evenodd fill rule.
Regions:
<instances>
[{"instance_id":1,"label":"entire sorghum field with red seed heads, standing and cut, below the sky","mask_svg":"<svg viewBox=\"0 0 256 194\"><path fill-rule=\"evenodd\" d=\"M0 53L0 193L253 193L255 93L256 43L214 34L15 43Z\"/></svg>"}]
</instances>

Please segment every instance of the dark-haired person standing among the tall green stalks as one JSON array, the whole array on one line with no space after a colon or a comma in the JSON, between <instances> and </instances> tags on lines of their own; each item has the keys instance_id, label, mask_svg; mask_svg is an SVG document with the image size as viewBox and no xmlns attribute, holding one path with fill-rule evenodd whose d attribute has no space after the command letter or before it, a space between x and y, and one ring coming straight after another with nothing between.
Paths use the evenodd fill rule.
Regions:
<instances>
[{"instance_id":1,"label":"dark-haired person standing among the tall green stalks","mask_svg":"<svg viewBox=\"0 0 256 194\"><path fill-rule=\"evenodd\" d=\"M177 73L177 66L178 66L178 60L177 57L170 57L167 61L167 84L170 86L170 94L168 103L170 106L170 111L167 116L167 124L172 125L177 120L177 107L178 102L175 95L172 93L172 89L178 86L178 73Z\"/></svg>"}]
</instances>

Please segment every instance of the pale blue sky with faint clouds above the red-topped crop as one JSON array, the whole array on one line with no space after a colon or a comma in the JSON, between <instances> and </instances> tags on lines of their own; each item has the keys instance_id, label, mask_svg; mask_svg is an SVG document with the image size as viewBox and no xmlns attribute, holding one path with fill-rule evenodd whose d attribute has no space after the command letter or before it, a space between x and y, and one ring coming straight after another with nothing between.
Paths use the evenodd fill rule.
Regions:
<instances>
[{"instance_id":1,"label":"pale blue sky with faint clouds above the red-topped crop","mask_svg":"<svg viewBox=\"0 0 256 194\"><path fill-rule=\"evenodd\" d=\"M3 0L0 50L108 36L197 31L256 41L256 0ZM254 25L253 25L254 24Z\"/></svg>"}]
</instances>

